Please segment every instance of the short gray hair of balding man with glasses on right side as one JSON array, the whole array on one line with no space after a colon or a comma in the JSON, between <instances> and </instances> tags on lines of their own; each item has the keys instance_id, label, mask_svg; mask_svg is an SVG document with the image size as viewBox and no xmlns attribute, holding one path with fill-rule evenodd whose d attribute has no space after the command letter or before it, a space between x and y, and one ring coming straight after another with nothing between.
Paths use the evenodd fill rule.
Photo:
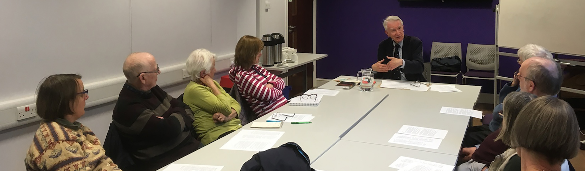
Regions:
<instances>
[{"instance_id":1,"label":"short gray hair of balding man with glasses on right side","mask_svg":"<svg viewBox=\"0 0 585 171\"><path fill-rule=\"evenodd\" d=\"M551 68L552 67L552 68ZM563 83L563 71L560 64L552 60L537 60L528 64L526 79L534 82L539 94L555 95Z\"/></svg>"}]
</instances>

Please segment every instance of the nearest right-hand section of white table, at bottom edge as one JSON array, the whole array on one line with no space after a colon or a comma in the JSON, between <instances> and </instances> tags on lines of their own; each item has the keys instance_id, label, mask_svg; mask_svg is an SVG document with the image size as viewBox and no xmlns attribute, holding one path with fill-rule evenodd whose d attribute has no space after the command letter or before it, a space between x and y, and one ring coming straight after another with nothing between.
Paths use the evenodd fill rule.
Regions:
<instances>
[{"instance_id":1,"label":"nearest right-hand section of white table, at bottom edge","mask_svg":"<svg viewBox=\"0 0 585 171\"><path fill-rule=\"evenodd\" d=\"M335 170L398 170L390 166L400 156L453 165L457 156L418 151L371 143L340 140L318 160L313 169ZM311 158L311 156L309 156Z\"/></svg>"}]
</instances>

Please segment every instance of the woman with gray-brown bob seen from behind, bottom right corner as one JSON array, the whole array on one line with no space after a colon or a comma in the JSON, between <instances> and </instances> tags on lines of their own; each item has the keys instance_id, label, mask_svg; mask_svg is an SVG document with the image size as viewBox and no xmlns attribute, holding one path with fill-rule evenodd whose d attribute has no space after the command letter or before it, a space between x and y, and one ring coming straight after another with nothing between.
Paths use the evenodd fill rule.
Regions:
<instances>
[{"instance_id":1,"label":"woman with gray-brown bob seen from behind, bottom right corner","mask_svg":"<svg viewBox=\"0 0 585 171\"><path fill-rule=\"evenodd\" d=\"M511 149L495 157L490 170L574 170L567 159L579 151L579 124L572 107L545 95L520 111L510 131L501 131Z\"/></svg>"}]
</instances>

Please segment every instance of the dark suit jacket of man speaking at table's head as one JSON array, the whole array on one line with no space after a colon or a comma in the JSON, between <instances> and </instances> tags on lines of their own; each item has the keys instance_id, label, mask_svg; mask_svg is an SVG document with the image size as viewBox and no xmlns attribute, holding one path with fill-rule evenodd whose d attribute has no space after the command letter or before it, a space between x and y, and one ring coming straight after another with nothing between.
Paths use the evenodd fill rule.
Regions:
<instances>
[{"instance_id":1,"label":"dark suit jacket of man speaking at table's head","mask_svg":"<svg viewBox=\"0 0 585 171\"><path fill-rule=\"evenodd\" d=\"M387 59L386 56L394 56L394 43L392 43L390 37L383 40L378 45L378 60ZM402 40L402 59L404 59L404 69L398 67L395 70L400 69L404 73L404 77L408 81L426 81L425 77L422 76L422 72L425 70L425 66L422 60L422 41L418 37L404 35ZM384 61L383 64L388 63ZM374 78L390 79L391 72L386 73L375 73Z\"/></svg>"}]
</instances>

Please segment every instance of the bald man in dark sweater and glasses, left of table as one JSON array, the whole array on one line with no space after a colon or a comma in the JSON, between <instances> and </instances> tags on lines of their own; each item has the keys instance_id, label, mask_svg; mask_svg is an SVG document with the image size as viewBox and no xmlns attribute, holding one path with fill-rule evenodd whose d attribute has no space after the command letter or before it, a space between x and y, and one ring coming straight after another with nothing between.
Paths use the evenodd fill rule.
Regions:
<instances>
[{"instance_id":1,"label":"bald man in dark sweater and glasses, left of table","mask_svg":"<svg viewBox=\"0 0 585 171\"><path fill-rule=\"evenodd\" d=\"M132 53L122 67L128 79L113 110L122 145L135 165L157 170L198 149L191 109L156 85L159 66L150 53Z\"/></svg>"}]
</instances>

